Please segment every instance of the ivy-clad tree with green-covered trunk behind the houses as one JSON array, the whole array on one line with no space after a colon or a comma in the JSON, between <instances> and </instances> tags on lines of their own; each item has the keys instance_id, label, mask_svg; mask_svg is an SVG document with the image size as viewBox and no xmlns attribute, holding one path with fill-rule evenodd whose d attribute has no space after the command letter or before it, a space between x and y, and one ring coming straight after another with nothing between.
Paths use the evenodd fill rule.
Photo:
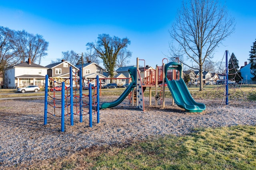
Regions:
<instances>
[{"instance_id":1,"label":"ivy-clad tree with green-covered trunk behind the houses","mask_svg":"<svg viewBox=\"0 0 256 170\"><path fill-rule=\"evenodd\" d=\"M94 49L96 55L100 57L110 77L114 77L114 68L116 66L117 56L121 49L125 49L130 44L128 38L120 39L116 36L110 37L108 34L100 34L98 41L87 43L88 49Z\"/></svg>"}]
</instances>

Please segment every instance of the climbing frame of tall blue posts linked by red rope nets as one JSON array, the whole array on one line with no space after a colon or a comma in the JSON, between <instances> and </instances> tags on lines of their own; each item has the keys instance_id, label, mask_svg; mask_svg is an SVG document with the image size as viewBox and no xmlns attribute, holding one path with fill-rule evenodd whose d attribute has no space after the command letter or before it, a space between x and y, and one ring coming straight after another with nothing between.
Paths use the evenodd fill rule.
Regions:
<instances>
[{"instance_id":1,"label":"climbing frame of tall blue posts linked by red rope nets","mask_svg":"<svg viewBox=\"0 0 256 170\"><path fill-rule=\"evenodd\" d=\"M73 74L75 75L74 79L73 79ZM70 115L70 125L72 126L74 125L74 115L79 115L80 122L82 122L83 115L88 114L89 126L92 127L92 112L97 113L97 123L100 122L100 112L99 112L100 105L99 105L99 95L98 95L99 86L100 86L99 78L98 76L96 77L96 86L94 87L92 87L92 84L88 82L89 94L85 94L83 93L83 88L85 87L82 86L82 82L84 80L82 78L81 68L79 70L80 78L77 78L76 76L77 74L78 72L73 72L72 67L70 67L70 86L66 88L65 82L61 82L62 84L61 98L58 98L60 95L56 95L55 91L53 91L53 97L48 95L48 87L50 86L48 86L49 78L48 78L48 75L46 75L46 89L45 89L45 100L44 100L44 125L47 124L48 113L53 116L61 117L61 131L64 131L64 120L65 120L65 116L68 116L68 115ZM51 80L51 81L53 81L54 84L60 83L60 82L55 82L54 80ZM75 84L74 88L73 88L73 82ZM94 90L93 93L92 93L92 90ZM79 95L77 95L77 91L79 91ZM52 102L48 102L48 96L52 99ZM88 100L86 101L86 99ZM61 104L59 104L58 101L61 101ZM48 106L51 106L51 108L53 109L53 112L49 111ZM94 111L92 111L93 107L94 107ZM74 108L76 108L76 112L74 112ZM59 114L59 111L61 111L61 115Z\"/></svg>"}]
</instances>

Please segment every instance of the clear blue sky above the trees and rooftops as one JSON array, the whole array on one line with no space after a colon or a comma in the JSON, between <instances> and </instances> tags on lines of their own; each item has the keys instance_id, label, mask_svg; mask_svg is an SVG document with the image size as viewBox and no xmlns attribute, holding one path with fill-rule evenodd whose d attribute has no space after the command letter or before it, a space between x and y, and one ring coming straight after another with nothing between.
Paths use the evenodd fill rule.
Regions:
<instances>
[{"instance_id":1,"label":"clear blue sky above the trees and rooftops","mask_svg":"<svg viewBox=\"0 0 256 170\"><path fill-rule=\"evenodd\" d=\"M9 0L0 3L0 26L42 35L49 42L43 66L61 58L62 51L85 52L86 43L107 33L130 39L127 65L136 65L138 57L155 67L168 55L168 30L180 6L181 0ZM226 6L236 19L236 30L216 48L214 61L228 50L243 66L256 39L256 1L226 0Z\"/></svg>"}]
</instances>

